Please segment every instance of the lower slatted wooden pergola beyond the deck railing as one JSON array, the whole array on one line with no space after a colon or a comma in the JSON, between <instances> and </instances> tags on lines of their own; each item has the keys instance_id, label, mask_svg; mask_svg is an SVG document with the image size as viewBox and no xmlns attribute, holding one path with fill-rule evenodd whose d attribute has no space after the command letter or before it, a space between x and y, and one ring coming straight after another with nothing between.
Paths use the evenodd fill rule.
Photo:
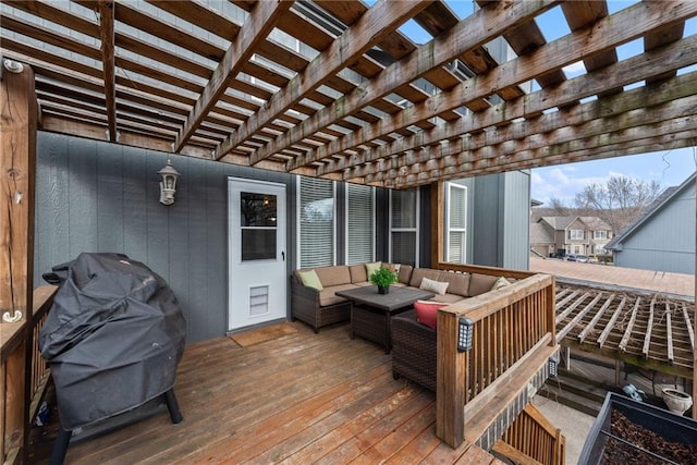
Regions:
<instances>
[{"instance_id":1,"label":"lower slatted wooden pergola beyond the deck railing","mask_svg":"<svg viewBox=\"0 0 697 465\"><path fill-rule=\"evenodd\" d=\"M695 303L659 292L561 284L557 342L565 347L693 378Z\"/></svg>"}]
</instances>

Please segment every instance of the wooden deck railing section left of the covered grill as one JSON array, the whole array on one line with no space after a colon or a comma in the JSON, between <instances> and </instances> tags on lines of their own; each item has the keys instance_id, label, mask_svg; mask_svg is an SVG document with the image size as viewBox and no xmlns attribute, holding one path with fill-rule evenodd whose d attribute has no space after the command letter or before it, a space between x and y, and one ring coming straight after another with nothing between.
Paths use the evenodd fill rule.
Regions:
<instances>
[{"instance_id":1,"label":"wooden deck railing section left of the covered grill","mask_svg":"<svg viewBox=\"0 0 697 465\"><path fill-rule=\"evenodd\" d=\"M49 375L38 351L38 334L56 290L41 286L34 291L29 322L0 325L0 392L3 393L0 396L0 458L3 464L24 461L29 421L36 415Z\"/></svg>"}]
</instances>

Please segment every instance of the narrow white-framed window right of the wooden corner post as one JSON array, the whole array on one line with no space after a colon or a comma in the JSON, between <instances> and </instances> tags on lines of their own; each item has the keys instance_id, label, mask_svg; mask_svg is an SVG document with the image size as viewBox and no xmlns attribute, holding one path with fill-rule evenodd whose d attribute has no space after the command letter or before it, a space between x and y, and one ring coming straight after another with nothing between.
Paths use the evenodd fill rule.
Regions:
<instances>
[{"instance_id":1,"label":"narrow white-framed window right of the wooden corner post","mask_svg":"<svg viewBox=\"0 0 697 465\"><path fill-rule=\"evenodd\" d=\"M448 183L445 197L445 261L465 264L467 259L467 187Z\"/></svg>"}]
</instances>

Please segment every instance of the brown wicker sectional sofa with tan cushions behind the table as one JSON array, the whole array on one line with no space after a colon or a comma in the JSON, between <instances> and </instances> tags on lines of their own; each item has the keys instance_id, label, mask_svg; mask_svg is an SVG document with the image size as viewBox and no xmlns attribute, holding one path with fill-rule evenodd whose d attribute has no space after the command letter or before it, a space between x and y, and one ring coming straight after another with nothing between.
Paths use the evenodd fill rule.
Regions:
<instances>
[{"instance_id":1,"label":"brown wicker sectional sofa with tan cushions behind the table","mask_svg":"<svg viewBox=\"0 0 697 465\"><path fill-rule=\"evenodd\" d=\"M424 278L437 282L448 282L447 292L437 294L432 301L454 304L464 298L487 292L498 277L441 271L429 268L414 268L408 265L395 266L399 282L395 286L419 287ZM321 291L303 284L301 273L309 269L297 270L291 276L291 315L313 327L315 332L327 325L345 321L351 318L351 303L337 296L337 291L370 285L366 264L337 265L313 269L321 283Z\"/></svg>"}]
</instances>

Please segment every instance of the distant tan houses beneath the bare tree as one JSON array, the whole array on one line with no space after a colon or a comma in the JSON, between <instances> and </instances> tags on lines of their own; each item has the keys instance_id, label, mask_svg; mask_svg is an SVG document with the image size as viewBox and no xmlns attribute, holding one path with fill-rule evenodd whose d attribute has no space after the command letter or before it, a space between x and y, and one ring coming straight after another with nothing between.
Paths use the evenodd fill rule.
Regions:
<instances>
[{"instance_id":1,"label":"distant tan houses beneath the bare tree","mask_svg":"<svg viewBox=\"0 0 697 465\"><path fill-rule=\"evenodd\" d=\"M530 224L530 249L549 256L603 255L612 228L598 217L542 217Z\"/></svg>"}]
</instances>

